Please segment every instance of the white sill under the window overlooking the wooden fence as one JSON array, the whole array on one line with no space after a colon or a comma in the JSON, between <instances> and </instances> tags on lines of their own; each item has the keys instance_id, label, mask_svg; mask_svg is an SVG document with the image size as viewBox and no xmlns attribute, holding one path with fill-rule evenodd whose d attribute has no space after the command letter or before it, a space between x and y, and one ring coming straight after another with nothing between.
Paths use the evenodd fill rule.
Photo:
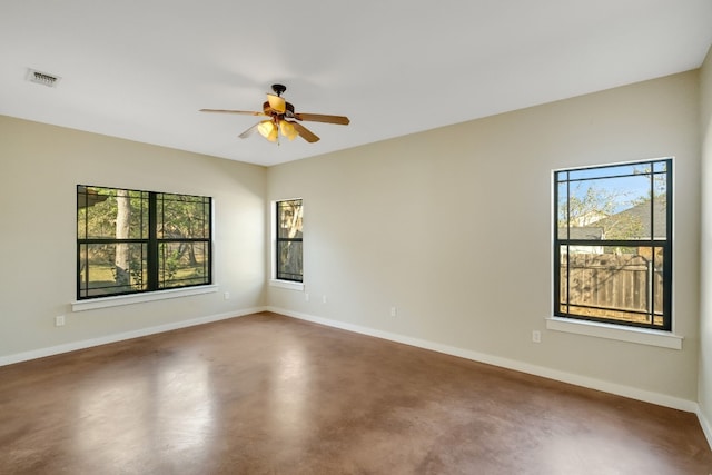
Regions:
<instances>
[{"instance_id":1,"label":"white sill under the window overlooking the wooden fence","mask_svg":"<svg viewBox=\"0 0 712 475\"><path fill-rule=\"evenodd\" d=\"M575 320L572 318L546 318L546 329L616 339L619 342L637 343L640 345L659 346L661 348L682 349L683 337L668 331L635 327L621 327L596 321Z\"/></svg>"}]
</instances>

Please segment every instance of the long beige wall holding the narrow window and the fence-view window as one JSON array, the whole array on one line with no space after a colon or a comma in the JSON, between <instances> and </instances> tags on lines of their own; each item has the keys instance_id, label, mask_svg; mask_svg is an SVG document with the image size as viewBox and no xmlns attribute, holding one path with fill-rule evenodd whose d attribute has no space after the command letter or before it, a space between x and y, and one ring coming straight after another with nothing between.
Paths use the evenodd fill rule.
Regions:
<instances>
[{"instance_id":1,"label":"long beige wall holding the narrow window and the fence-view window","mask_svg":"<svg viewBox=\"0 0 712 475\"><path fill-rule=\"evenodd\" d=\"M696 400L698 79L691 71L270 168L270 200L304 198L310 295L270 287L270 305ZM546 330L552 169L665 156L675 157L683 349Z\"/></svg>"}]
</instances>

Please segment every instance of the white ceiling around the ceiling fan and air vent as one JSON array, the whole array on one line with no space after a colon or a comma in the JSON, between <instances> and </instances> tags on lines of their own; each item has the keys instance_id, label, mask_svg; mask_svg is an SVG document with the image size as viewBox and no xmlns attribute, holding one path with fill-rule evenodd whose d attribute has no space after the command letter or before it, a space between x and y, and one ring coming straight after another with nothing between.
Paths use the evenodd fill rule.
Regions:
<instances>
[{"instance_id":1,"label":"white ceiling around the ceiling fan and air vent","mask_svg":"<svg viewBox=\"0 0 712 475\"><path fill-rule=\"evenodd\" d=\"M712 0L2 0L0 115L269 166L694 69L711 43ZM276 146L198 112L260 110L275 82L352 123Z\"/></svg>"}]
</instances>

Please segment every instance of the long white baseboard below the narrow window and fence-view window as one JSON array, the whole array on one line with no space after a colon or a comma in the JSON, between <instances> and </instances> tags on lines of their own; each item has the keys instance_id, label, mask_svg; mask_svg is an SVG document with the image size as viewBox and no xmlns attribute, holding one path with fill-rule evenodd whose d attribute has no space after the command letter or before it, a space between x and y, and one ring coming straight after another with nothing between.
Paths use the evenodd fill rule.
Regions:
<instances>
[{"instance_id":1,"label":"long white baseboard below the narrow window and fence-view window","mask_svg":"<svg viewBox=\"0 0 712 475\"><path fill-rule=\"evenodd\" d=\"M390 342L403 343L405 345L416 346L418 348L424 348L424 349L431 349L433 352L444 353L446 355L458 356L461 358L466 358L466 359L471 359L478 363L485 363L488 365L498 366L506 369L514 369L516 372L527 373L534 376L541 376L548 379L558 380L562 383L568 383L576 386L586 387L590 389L602 390L604 393L615 394L617 396L630 397L631 399L656 404L659 406L670 407L673 409L684 410L688 413L700 414L699 405L694 400L682 399L682 398L669 396L665 394L653 393L653 392L639 389L631 386L590 378L590 377L576 375L573 373L560 372L560 370L547 368L544 366L531 365L528 363L518 362L515 359L502 358L498 356L487 355L484 353L477 353L469 349L457 348L448 345L442 345L438 343L428 342L424 339L412 338L412 337L407 337L398 334L393 334L389 331L383 331L374 328L363 327L359 325L332 320L328 318L315 317L312 315L287 310L285 308L267 307L266 309L268 311L274 311L276 314L286 315L288 317L313 321L316 324L320 324L320 325L325 325L334 328L355 331L358 334L374 336L374 337L387 339ZM703 429L704 429L704 426L703 426ZM710 441L711 438L708 436L708 439Z\"/></svg>"}]
</instances>

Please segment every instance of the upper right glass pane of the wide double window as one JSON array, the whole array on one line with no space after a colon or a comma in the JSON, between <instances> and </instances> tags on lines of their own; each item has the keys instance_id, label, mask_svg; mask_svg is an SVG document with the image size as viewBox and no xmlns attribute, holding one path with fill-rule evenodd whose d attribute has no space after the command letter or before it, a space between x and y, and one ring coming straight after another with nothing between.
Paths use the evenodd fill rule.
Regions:
<instances>
[{"instance_id":1,"label":"upper right glass pane of the wide double window","mask_svg":"<svg viewBox=\"0 0 712 475\"><path fill-rule=\"evenodd\" d=\"M210 236L210 198L158 194L157 236L159 239Z\"/></svg>"}]
</instances>

